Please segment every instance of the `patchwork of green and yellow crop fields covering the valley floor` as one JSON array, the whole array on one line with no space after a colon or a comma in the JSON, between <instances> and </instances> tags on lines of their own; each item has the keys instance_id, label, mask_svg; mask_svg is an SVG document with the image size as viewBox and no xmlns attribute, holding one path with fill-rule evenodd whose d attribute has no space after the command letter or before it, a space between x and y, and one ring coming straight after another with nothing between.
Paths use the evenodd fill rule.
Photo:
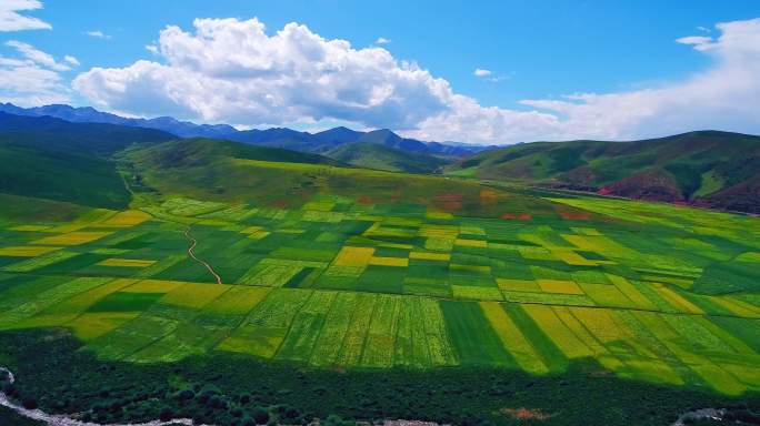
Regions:
<instances>
[{"instance_id":1,"label":"patchwork of green and yellow crop fields covering the valley floor","mask_svg":"<svg viewBox=\"0 0 760 426\"><path fill-rule=\"evenodd\" d=\"M543 375L593 358L620 377L760 390L760 220L530 199L168 197L6 223L0 329L68 327L99 357L134 363L219 351ZM223 284L188 256L188 229Z\"/></svg>"}]
</instances>

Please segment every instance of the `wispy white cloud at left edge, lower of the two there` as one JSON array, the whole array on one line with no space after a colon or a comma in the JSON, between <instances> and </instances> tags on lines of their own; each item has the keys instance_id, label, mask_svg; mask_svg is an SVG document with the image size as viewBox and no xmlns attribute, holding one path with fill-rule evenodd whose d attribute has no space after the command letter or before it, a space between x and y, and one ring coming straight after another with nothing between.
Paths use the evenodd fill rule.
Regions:
<instances>
[{"instance_id":1,"label":"wispy white cloud at left edge, lower of the two there","mask_svg":"<svg viewBox=\"0 0 760 426\"><path fill-rule=\"evenodd\" d=\"M6 45L16 49L17 58L0 57L0 99L23 106L69 101L70 89L61 71L78 67L71 55L62 62L31 44L10 40Z\"/></svg>"}]
</instances>

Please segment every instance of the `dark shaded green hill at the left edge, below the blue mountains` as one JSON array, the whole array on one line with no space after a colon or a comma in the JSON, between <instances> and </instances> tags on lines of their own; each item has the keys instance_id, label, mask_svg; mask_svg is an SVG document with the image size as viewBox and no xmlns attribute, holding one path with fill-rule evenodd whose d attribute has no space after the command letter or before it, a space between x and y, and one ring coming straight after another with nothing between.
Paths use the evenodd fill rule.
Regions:
<instances>
[{"instance_id":1,"label":"dark shaded green hill at the left edge, below the blue mountains","mask_svg":"<svg viewBox=\"0 0 760 426\"><path fill-rule=\"evenodd\" d=\"M121 209L130 194L110 155L174 135L113 124L0 113L0 193Z\"/></svg>"}]
</instances>

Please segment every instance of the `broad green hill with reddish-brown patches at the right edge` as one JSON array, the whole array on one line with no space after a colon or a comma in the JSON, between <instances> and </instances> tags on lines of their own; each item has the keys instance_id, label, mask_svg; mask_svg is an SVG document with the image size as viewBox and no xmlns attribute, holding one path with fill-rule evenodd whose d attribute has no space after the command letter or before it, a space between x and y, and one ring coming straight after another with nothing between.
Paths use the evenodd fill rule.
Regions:
<instances>
[{"instance_id":1,"label":"broad green hill with reddish-brown patches at the right edge","mask_svg":"<svg viewBox=\"0 0 760 426\"><path fill-rule=\"evenodd\" d=\"M527 143L477 154L448 172L760 212L760 138L738 133Z\"/></svg>"}]
</instances>

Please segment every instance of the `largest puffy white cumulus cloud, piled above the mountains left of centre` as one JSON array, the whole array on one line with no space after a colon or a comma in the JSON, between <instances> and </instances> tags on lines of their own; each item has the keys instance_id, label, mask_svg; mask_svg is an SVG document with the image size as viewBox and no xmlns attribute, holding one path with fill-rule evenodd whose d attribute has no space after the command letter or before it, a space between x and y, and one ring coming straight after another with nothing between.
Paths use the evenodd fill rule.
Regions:
<instances>
[{"instance_id":1,"label":"largest puffy white cumulus cloud, piled above the mountains left of centre","mask_svg":"<svg viewBox=\"0 0 760 426\"><path fill-rule=\"evenodd\" d=\"M250 125L334 119L413 129L448 108L446 80L382 48L353 49L297 23L271 36L257 19L193 26L161 31L161 62L93 68L73 87L117 111Z\"/></svg>"}]
</instances>

